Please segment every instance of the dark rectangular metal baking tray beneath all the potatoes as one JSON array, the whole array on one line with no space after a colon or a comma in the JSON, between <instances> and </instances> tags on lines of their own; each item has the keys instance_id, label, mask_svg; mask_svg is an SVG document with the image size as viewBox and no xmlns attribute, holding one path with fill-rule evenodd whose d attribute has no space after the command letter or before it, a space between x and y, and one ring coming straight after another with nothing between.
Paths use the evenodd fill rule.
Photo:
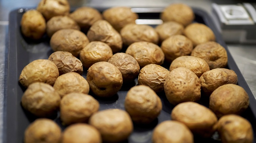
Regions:
<instances>
[{"instance_id":1,"label":"dark rectangular metal baking tray beneath all the potatoes","mask_svg":"<svg viewBox=\"0 0 256 143\"><path fill-rule=\"evenodd\" d=\"M7 88L5 90L5 99L4 99L4 136L3 140L6 143L21 143L23 142L24 131L27 126L36 119L36 117L32 116L30 113L25 111L21 106L21 97L25 88L23 88L19 84L19 75L22 69L36 59L48 59L48 57L53 53L49 45L49 38L45 36L40 41L32 41L24 38L20 32L20 20L23 13L28 8L21 8L11 11L10 19L9 19L9 52L8 52L8 60L6 61L6 65L8 65L7 74ZM99 11L103 11L106 8L96 8ZM140 19L159 19L160 12L163 8L133 8L135 12L139 14ZM210 16L203 10L198 8L193 8L195 13L195 22L203 23L209 26L215 34L216 41L220 43L227 51L228 55L228 65L227 69L231 69L236 72L238 75L238 85L243 87L249 95L250 104L248 109L243 113L243 117L248 119L254 131L254 143L256 142L256 101L255 98L250 91L247 83L241 72L239 71L236 63L234 62L230 52L227 49L226 44L224 43L222 36L218 32L215 27ZM155 26L155 25L152 25ZM123 50L124 51L124 50ZM169 68L168 63L164 63L162 66ZM86 78L86 69L84 69L83 77ZM109 99L98 98L93 95L93 93L89 93L94 96L100 103L100 110L108 109L108 108L120 108L124 109L124 99L127 91L138 84L138 79L135 80L133 84L123 85L120 91ZM149 125L138 125L134 124L134 131L130 135L130 137L125 140L126 143L150 143L151 136L154 127L164 120L170 120L170 114L174 106L170 104L164 92L158 93L159 97L162 100L163 109L159 115L159 117L154 120ZM199 103L208 106L209 99L202 96ZM54 118L60 126L60 119ZM65 129L64 126L61 126L62 129ZM213 138L201 138L195 136L195 142L220 142L218 139Z\"/></svg>"}]
</instances>

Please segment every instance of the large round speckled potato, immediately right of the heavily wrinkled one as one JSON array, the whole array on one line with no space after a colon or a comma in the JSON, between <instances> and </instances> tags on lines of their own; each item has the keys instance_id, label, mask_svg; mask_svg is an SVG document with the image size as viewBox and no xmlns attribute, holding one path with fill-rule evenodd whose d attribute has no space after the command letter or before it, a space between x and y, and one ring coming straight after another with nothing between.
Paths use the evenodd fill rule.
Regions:
<instances>
[{"instance_id":1,"label":"large round speckled potato, immediately right of the heavily wrinkled one","mask_svg":"<svg viewBox=\"0 0 256 143\"><path fill-rule=\"evenodd\" d=\"M172 70L164 82L166 98L173 105L201 98L201 85L196 74L187 68Z\"/></svg>"}]
</instances>

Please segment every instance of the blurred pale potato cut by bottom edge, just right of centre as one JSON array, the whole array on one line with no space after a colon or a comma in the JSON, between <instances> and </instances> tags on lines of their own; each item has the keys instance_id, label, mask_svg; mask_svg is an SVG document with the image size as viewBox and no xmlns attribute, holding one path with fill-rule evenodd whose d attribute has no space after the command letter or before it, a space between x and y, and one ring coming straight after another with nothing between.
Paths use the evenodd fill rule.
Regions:
<instances>
[{"instance_id":1,"label":"blurred pale potato cut by bottom edge, just right of centre","mask_svg":"<svg viewBox=\"0 0 256 143\"><path fill-rule=\"evenodd\" d=\"M163 121L153 131L153 143L194 143L194 136L187 126L178 121Z\"/></svg>"}]
</instances>

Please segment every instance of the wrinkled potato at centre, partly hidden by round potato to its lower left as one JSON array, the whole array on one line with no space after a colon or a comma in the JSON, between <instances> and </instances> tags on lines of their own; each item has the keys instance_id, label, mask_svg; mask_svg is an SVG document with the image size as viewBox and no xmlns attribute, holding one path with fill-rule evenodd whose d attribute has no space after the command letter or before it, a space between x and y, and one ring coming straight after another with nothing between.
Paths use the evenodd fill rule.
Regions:
<instances>
[{"instance_id":1,"label":"wrinkled potato at centre, partly hidden by round potato to its lower left","mask_svg":"<svg viewBox=\"0 0 256 143\"><path fill-rule=\"evenodd\" d=\"M123 82L131 82L139 74L139 63L136 59L125 53L117 53L109 60L109 63L115 65L122 74Z\"/></svg>"}]
</instances>

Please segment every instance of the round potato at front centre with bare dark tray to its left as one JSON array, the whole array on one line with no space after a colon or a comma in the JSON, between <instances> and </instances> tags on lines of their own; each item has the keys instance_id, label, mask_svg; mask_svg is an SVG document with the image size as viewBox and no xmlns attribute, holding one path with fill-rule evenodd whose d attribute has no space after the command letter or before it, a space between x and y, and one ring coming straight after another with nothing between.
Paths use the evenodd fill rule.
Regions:
<instances>
[{"instance_id":1,"label":"round potato at front centre with bare dark tray to its left","mask_svg":"<svg viewBox=\"0 0 256 143\"><path fill-rule=\"evenodd\" d=\"M134 122L148 124L160 114L162 102L150 87L139 85L127 92L124 107Z\"/></svg>"}]
</instances>

